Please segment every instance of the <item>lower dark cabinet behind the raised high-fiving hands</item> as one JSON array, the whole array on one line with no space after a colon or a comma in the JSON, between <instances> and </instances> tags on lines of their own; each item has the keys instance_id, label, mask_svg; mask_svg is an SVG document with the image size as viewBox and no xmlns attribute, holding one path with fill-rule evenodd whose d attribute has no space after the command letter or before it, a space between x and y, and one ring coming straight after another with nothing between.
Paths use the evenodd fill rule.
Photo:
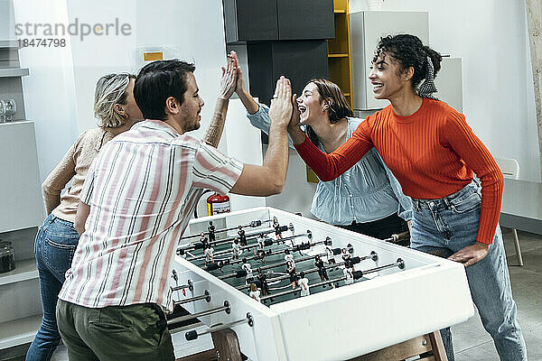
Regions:
<instances>
[{"instance_id":1,"label":"lower dark cabinet behind the raised high-fiving hands","mask_svg":"<svg viewBox=\"0 0 542 361\"><path fill-rule=\"evenodd\" d=\"M247 52L250 92L266 105L281 75L292 81L298 95L310 79L328 78L327 42L323 40L249 43Z\"/></svg>"}]
</instances>

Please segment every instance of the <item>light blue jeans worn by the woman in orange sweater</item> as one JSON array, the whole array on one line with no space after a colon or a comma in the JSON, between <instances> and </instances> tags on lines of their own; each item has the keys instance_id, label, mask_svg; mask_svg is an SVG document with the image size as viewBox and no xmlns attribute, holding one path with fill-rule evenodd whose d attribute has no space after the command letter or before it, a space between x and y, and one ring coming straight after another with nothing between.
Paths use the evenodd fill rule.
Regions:
<instances>
[{"instance_id":1,"label":"light blue jeans worn by the woman in orange sweater","mask_svg":"<svg viewBox=\"0 0 542 361\"><path fill-rule=\"evenodd\" d=\"M412 199L411 246L422 252L448 257L476 242L480 221L480 186L472 182L444 199ZM508 265L500 227L488 255L465 268L472 301L481 322L505 361L527 360L527 347L516 320ZM450 329L442 329L448 360L453 361Z\"/></svg>"}]
</instances>

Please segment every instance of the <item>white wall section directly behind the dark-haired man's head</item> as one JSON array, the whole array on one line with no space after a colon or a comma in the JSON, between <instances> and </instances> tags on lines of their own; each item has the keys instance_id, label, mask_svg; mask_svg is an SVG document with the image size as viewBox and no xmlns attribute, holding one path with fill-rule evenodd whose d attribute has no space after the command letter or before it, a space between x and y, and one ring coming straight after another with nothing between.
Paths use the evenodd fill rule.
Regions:
<instances>
[{"instance_id":1,"label":"white wall section directly behind the dark-haired man's head","mask_svg":"<svg viewBox=\"0 0 542 361\"><path fill-rule=\"evenodd\" d=\"M166 46L174 56L196 64L195 76L206 105L201 112L202 135L209 124L214 102L219 94L220 66L226 59L220 0L205 5L190 0L143 0L109 2L97 0L68 2L70 22L76 18L86 23L129 23L129 36L89 36L83 42L72 41L73 63L79 107L79 130L95 126L92 118L94 85L107 72L136 72L132 54L138 47Z\"/></svg>"}]
</instances>

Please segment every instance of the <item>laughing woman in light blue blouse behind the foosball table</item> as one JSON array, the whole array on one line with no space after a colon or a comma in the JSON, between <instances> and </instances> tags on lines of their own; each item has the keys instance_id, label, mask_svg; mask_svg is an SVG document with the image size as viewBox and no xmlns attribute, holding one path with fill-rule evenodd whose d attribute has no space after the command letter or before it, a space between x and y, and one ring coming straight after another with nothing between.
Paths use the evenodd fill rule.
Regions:
<instances>
[{"instance_id":1,"label":"laughing woman in light blue blouse behind the foosball table","mask_svg":"<svg viewBox=\"0 0 542 361\"><path fill-rule=\"evenodd\" d=\"M258 104L248 93L240 69L236 92L250 123L267 133L269 107ZM296 103L294 116L300 117L305 132L324 152L346 142L362 122L352 117L341 89L326 79L309 81ZM291 140L289 145L293 147ZM383 239L408 230L412 205L373 148L341 177L318 183L311 212L326 223Z\"/></svg>"}]
</instances>

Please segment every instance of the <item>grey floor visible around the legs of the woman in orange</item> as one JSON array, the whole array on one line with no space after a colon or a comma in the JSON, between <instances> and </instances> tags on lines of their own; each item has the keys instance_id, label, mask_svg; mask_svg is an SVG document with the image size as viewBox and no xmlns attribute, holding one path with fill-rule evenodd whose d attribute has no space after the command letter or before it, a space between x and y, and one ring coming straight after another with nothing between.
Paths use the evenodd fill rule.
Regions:
<instances>
[{"instance_id":1,"label":"grey floor visible around the legs of the woman in orange","mask_svg":"<svg viewBox=\"0 0 542 361\"><path fill-rule=\"evenodd\" d=\"M518 267L512 233L503 230L518 319L527 342L528 358L542 360L542 236L519 232L523 267ZM478 314L452 328L457 361L494 361L497 352L491 337L482 328ZM66 349L59 347L53 361L65 361Z\"/></svg>"}]
</instances>

